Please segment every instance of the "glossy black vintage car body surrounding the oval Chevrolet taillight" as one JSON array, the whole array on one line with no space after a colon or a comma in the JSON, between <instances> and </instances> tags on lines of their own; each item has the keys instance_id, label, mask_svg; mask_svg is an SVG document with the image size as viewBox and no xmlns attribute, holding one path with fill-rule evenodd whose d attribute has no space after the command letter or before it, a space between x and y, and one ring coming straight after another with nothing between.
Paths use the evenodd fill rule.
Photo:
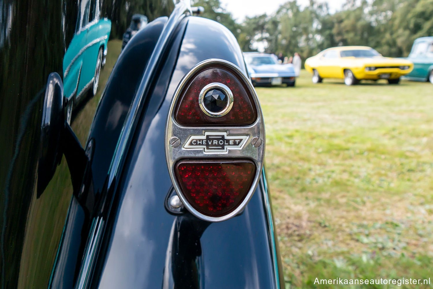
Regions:
<instances>
[{"instance_id":1,"label":"glossy black vintage car body surrounding the oval Chevrolet taillight","mask_svg":"<svg viewBox=\"0 0 433 289\"><path fill-rule=\"evenodd\" d=\"M169 18L155 16L120 54L81 147L82 126L65 124L67 104L56 102L75 21L65 7L76 3L30 2L0 3L0 130L9 136L0 141L2 288L284 288L264 171L248 205L227 221L168 204L171 97L206 59L246 73L229 30L189 16L185 2ZM50 17L32 16L47 9ZM48 50L37 41L44 37Z\"/></svg>"}]
</instances>

